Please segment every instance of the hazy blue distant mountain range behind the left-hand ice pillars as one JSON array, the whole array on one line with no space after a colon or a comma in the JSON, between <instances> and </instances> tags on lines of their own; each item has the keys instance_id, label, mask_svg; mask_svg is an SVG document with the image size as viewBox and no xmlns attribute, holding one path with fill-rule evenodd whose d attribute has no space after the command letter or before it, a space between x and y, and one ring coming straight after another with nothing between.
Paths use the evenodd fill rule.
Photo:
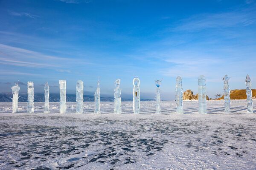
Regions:
<instances>
[{"instance_id":1,"label":"hazy blue distant mountain range behind the left-hand ice pillars","mask_svg":"<svg viewBox=\"0 0 256 170\"><path fill-rule=\"evenodd\" d=\"M27 94L19 94L18 102L27 102ZM12 93L0 93L0 102L12 102ZM59 102L60 94L50 94L49 102ZM84 102L93 102L94 96L84 95ZM100 97L102 102L113 102L113 97ZM122 99L123 102L130 102L133 99ZM153 99L140 99L140 101L154 101ZM34 102L44 102L44 94L34 94ZM76 94L67 94L67 102L76 102Z\"/></svg>"}]
</instances>

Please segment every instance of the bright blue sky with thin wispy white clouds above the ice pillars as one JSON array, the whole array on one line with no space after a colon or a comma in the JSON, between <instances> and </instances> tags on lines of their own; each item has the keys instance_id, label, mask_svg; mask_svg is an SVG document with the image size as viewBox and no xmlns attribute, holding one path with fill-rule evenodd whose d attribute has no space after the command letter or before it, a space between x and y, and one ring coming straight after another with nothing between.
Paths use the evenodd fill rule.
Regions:
<instances>
[{"instance_id":1,"label":"bright blue sky with thin wispy white clouds above the ice pillars","mask_svg":"<svg viewBox=\"0 0 256 170\"><path fill-rule=\"evenodd\" d=\"M222 93L228 74L231 89L245 88L249 74L256 88L255 0L0 0L0 92L20 92L34 81L35 92L58 93L67 80L75 94L96 89L113 96L121 79L122 97L132 97L140 78L142 98L154 98L154 79L163 79L162 97L175 99L175 78L183 89ZM254 82L255 80L255 82ZM22 85L24 84L24 85Z\"/></svg>"}]
</instances>

